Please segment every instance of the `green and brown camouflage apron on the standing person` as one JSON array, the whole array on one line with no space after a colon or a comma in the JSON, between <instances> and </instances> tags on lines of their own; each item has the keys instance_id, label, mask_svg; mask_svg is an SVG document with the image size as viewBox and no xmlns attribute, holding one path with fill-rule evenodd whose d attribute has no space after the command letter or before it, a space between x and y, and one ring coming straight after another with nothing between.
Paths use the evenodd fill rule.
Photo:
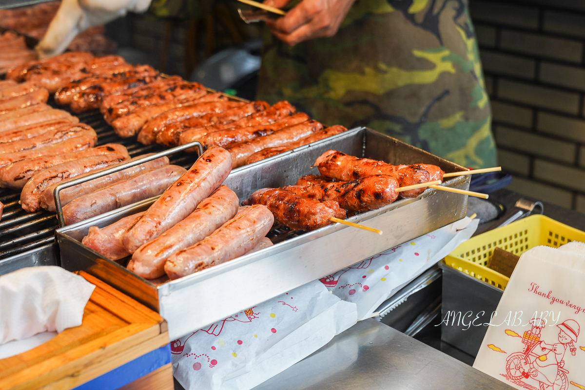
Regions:
<instances>
[{"instance_id":1,"label":"green and brown camouflage apron on the standing person","mask_svg":"<svg viewBox=\"0 0 585 390\"><path fill-rule=\"evenodd\" d=\"M358 0L338 33L289 47L264 32L257 97L368 126L465 167L496 165L466 0Z\"/></svg>"}]
</instances>

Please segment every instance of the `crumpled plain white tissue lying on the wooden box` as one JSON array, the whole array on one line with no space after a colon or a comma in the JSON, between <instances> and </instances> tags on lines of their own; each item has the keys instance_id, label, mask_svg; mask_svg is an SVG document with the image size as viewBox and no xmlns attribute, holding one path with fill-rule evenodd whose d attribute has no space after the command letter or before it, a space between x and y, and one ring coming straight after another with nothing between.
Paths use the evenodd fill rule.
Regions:
<instances>
[{"instance_id":1,"label":"crumpled plain white tissue lying on the wooden box","mask_svg":"<svg viewBox=\"0 0 585 390\"><path fill-rule=\"evenodd\" d=\"M81 325L94 288L79 275L53 266L22 268L2 275L0 344L43 332L61 333L68 327ZM11 345L11 350L16 350L15 344ZM5 350L0 351L2 354L6 357Z\"/></svg>"}]
</instances>

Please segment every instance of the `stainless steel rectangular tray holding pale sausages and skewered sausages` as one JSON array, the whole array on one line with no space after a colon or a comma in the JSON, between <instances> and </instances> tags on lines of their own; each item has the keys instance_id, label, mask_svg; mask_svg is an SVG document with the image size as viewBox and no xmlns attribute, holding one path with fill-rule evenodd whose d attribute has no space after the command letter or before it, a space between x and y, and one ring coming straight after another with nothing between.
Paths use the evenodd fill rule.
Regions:
<instances>
[{"instance_id":1,"label":"stainless steel rectangular tray holding pale sausages and skewered sausages","mask_svg":"<svg viewBox=\"0 0 585 390\"><path fill-rule=\"evenodd\" d=\"M435 164L446 172L464 169L373 130L357 128L233 170L225 184L240 200L259 188L294 184L302 175L316 173L312 163L329 149L395 164ZM469 177L453 178L446 185L467 189ZM383 230L381 236L339 224L288 234L272 247L175 281L137 277L81 244L90 226L108 226L153 201L63 227L57 230L57 242L62 267L87 271L157 310L168 322L171 339L439 229L463 218L467 210L467 196L428 189L418 198L401 199L348 219Z\"/></svg>"}]
</instances>

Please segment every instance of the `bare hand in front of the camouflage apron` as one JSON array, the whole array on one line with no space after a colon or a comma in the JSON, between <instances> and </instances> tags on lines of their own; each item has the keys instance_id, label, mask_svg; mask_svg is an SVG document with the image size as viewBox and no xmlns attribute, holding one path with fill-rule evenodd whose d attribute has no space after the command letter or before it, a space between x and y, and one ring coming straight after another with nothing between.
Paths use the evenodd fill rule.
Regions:
<instances>
[{"instance_id":1,"label":"bare hand in front of the camouflage apron","mask_svg":"<svg viewBox=\"0 0 585 390\"><path fill-rule=\"evenodd\" d=\"M264 4L283 8L291 0L266 0ZM266 22L284 43L295 46L305 40L332 37L355 0L302 0L287 15Z\"/></svg>"}]
</instances>

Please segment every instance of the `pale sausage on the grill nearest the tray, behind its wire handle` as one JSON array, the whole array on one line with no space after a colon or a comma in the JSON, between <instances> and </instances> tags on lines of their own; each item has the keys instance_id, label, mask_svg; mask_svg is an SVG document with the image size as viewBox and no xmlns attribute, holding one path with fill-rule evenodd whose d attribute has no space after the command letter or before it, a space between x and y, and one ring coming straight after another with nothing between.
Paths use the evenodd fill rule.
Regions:
<instances>
[{"instance_id":1,"label":"pale sausage on the grill nearest the tray, behind its wire handle","mask_svg":"<svg viewBox=\"0 0 585 390\"><path fill-rule=\"evenodd\" d=\"M160 195L185 171L185 168L178 165L166 165L75 198L63 207L65 224L72 225Z\"/></svg>"}]
</instances>

